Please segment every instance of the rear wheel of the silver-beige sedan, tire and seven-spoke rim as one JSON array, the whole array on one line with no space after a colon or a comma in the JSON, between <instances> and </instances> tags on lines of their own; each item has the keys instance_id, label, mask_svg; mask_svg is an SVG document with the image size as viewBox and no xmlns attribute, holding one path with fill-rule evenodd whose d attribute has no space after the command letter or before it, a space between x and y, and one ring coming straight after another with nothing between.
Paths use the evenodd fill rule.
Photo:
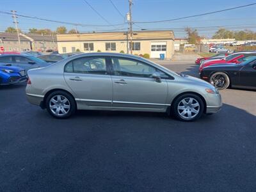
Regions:
<instances>
[{"instance_id":1,"label":"rear wheel of the silver-beige sedan, tire and seven-spoke rim","mask_svg":"<svg viewBox=\"0 0 256 192\"><path fill-rule=\"evenodd\" d=\"M47 111L55 118L68 118L76 111L76 101L67 92L52 92L46 99Z\"/></svg>"}]
</instances>

